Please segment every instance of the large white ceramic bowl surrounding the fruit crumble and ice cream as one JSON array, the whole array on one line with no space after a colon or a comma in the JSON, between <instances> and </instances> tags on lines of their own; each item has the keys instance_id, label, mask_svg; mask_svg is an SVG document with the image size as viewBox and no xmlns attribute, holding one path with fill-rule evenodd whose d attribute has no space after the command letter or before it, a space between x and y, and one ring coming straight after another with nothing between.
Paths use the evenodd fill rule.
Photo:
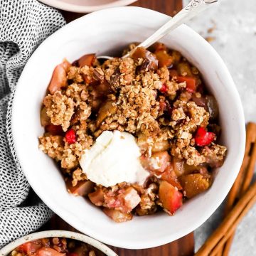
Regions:
<instances>
[{"instance_id":1,"label":"large white ceramic bowl surrounding the fruit crumble and ice cream","mask_svg":"<svg viewBox=\"0 0 256 256\"><path fill-rule=\"evenodd\" d=\"M136 17L136 18L132 18ZM163 245L190 233L205 222L227 196L242 163L245 119L234 82L218 53L188 26L161 40L179 50L201 71L220 110L222 142L228 146L225 163L213 186L176 212L134 217L114 223L100 208L70 195L53 160L38 149L43 134L40 108L55 65L85 53L112 53L133 41L143 41L169 16L138 7L105 9L79 18L46 39L31 56L16 87L12 129L18 159L38 196L66 222L108 245L146 248Z\"/></svg>"}]
</instances>

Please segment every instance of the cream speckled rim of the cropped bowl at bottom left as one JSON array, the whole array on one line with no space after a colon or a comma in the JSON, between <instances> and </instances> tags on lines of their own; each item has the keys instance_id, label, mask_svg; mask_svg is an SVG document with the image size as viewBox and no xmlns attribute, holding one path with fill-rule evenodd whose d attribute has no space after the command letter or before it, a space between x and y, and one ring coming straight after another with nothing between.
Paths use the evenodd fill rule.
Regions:
<instances>
[{"instance_id":1,"label":"cream speckled rim of the cropped bowl at bottom left","mask_svg":"<svg viewBox=\"0 0 256 256\"><path fill-rule=\"evenodd\" d=\"M92 245L93 247L99 249L100 251L104 252L107 256L117 256L115 252L110 250L109 247L106 245L103 245L102 242L99 242L95 239L89 238L86 235L82 235L75 232L70 231L64 231L64 230L48 230L48 231L42 231L38 233L33 233L29 235L23 236L23 238L18 238L14 242L9 243L9 245L6 245L5 247L1 248L0 250L0 256L6 256L9 255L9 253L14 250L19 245L22 245L24 242L29 242L36 239L41 238L71 238L74 240L86 242L88 245Z\"/></svg>"}]
</instances>

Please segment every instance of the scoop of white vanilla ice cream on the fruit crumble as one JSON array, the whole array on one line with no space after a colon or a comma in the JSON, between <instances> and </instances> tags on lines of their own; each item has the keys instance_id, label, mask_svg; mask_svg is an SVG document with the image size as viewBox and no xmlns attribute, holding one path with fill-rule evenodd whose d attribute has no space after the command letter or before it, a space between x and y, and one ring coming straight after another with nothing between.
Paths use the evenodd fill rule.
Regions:
<instances>
[{"instance_id":1,"label":"scoop of white vanilla ice cream on the fruit crumble","mask_svg":"<svg viewBox=\"0 0 256 256\"><path fill-rule=\"evenodd\" d=\"M142 167L139 156L139 146L132 134L105 131L83 152L80 166L90 181L105 187L124 181L142 184L149 172Z\"/></svg>"}]
</instances>

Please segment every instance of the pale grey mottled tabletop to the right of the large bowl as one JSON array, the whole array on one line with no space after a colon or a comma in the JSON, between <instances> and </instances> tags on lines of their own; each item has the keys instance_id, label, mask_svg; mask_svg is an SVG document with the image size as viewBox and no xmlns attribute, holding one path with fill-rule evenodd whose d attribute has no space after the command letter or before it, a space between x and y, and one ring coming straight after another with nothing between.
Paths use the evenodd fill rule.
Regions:
<instances>
[{"instance_id":1,"label":"pale grey mottled tabletop to the right of the large bowl","mask_svg":"<svg viewBox=\"0 0 256 256\"><path fill-rule=\"evenodd\" d=\"M219 0L219 4L188 21L188 26L212 40L210 44L223 58L238 88L246 122L256 122L255 0ZM222 208L196 230L196 250L220 223ZM256 255L255 230L256 206L240 223L230 256Z\"/></svg>"}]
</instances>

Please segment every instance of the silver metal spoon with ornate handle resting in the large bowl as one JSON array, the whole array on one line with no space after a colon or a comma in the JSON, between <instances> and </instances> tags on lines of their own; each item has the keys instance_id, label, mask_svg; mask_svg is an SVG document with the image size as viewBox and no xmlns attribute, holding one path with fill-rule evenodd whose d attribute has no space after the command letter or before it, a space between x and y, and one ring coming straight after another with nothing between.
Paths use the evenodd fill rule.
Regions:
<instances>
[{"instance_id":1,"label":"silver metal spoon with ornate handle resting in the large bowl","mask_svg":"<svg viewBox=\"0 0 256 256\"><path fill-rule=\"evenodd\" d=\"M192 0L186 7L179 11L178 14L171 18L170 21L161 26L161 28L159 28L155 33L149 36L149 38L146 38L146 40L140 43L139 46L131 50L126 55L122 56L122 58L126 58L129 57L129 55L132 55L132 53L134 53L134 51L138 47L148 48L153 43L156 43L156 41L159 41L159 39L166 36L166 34L170 33L175 28L180 26L182 23L188 21L188 19L191 19L202 11L205 11L206 9L208 9L209 6L213 6L213 4L217 2L218 0ZM97 56L97 58L110 60L113 57L102 55Z\"/></svg>"}]
</instances>

